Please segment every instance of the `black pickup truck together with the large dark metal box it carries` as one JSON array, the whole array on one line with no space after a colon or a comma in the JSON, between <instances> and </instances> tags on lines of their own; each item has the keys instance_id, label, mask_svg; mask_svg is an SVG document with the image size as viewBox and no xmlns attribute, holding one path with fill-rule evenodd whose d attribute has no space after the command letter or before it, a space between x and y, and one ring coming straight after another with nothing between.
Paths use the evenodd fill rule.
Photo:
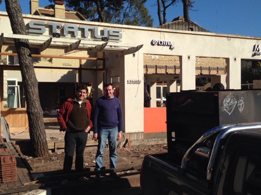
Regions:
<instances>
[{"instance_id":1,"label":"black pickup truck together with the large dark metal box it carries","mask_svg":"<svg viewBox=\"0 0 261 195\"><path fill-rule=\"evenodd\" d=\"M261 194L258 102L259 90L168 93L168 152L144 157L142 194Z\"/></svg>"}]
</instances>

